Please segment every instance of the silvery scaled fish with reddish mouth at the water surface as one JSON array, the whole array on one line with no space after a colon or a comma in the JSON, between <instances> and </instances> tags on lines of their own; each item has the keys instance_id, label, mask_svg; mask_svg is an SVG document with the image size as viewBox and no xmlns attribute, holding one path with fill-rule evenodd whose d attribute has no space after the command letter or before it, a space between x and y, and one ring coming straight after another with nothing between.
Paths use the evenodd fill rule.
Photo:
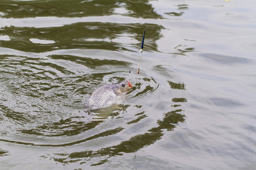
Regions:
<instances>
[{"instance_id":1,"label":"silvery scaled fish with reddish mouth at the water surface","mask_svg":"<svg viewBox=\"0 0 256 170\"><path fill-rule=\"evenodd\" d=\"M87 101L87 106L92 109L110 106L117 96L129 91L129 89L132 89L132 84L128 80L124 80L119 84L101 86L92 92Z\"/></svg>"}]
</instances>

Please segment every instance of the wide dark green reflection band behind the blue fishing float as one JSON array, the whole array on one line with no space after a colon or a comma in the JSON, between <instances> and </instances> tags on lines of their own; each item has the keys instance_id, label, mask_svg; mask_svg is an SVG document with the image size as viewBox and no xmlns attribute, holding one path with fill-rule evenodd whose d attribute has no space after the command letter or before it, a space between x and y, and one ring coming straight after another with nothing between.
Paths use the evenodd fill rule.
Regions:
<instances>
[{"instance_id":1,"label":"wide dark green reflection band behind the blue fishing float","mask_svg":"<svg viewBox=\"0 0 256 170\"><path fill-rule=\"evenodd\" d=\"M157 50L156 40L161 38L162 26L141 23L74 23L57 28L5 28L1 32L9 35L11 40L1 42L4 47L9 47L25 52L46 52L58 49L102 49L112 51L129 50L130 42L119 42L120 35L137 40L132 40L132 47L138 47L143 30L146 30L146 50ZM36 41L33 42L33 39ZM31 41L32 40L32 41ZM53 42L48 42L51 40ZM37 42L38 41L38 42ZM41 42L42 41L42 42ZM46 44L43 44L46 43Z\"/></svg>"}]
</instances>

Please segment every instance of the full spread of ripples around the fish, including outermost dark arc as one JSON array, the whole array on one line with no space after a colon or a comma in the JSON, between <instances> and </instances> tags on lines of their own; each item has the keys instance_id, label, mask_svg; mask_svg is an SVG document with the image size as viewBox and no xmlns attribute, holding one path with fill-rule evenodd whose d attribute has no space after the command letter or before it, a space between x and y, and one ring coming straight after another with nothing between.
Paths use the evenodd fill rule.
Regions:
<instances>
[{"instance_id":1,"label":"full spread of ripples around the fish, including outermost dark arc","mask_svg":"<svg viewBox=\"0 0 256 170\"><path fill-rule=\"evenodd\" d=\"M24 56L11 52L14 55L3 54L1 58L0 79L4 81L0 118L5 121L0 140L38 148L76 148L43 155L45 159L85 164L90 157L97 159L93 164L102 164L111 157L153 145L165 130L174 130L185 120L180 108L186 98L172 99L161 89L185 89L185 84L159 81L155 74L149 76L144 70L139 75L129 73L136 69L137 58L107 50L55 50L41 55L23 52ZM163 72L167 77L169 70ZM84 101L98 86L124 79L134 86L122 103L101 110L85 108ZM166 98L151 102L159 94L169 102ZM179 106L173 107L173 103ZM91 147L77 149L82 145Z\"/></svg>"}]
</instances>

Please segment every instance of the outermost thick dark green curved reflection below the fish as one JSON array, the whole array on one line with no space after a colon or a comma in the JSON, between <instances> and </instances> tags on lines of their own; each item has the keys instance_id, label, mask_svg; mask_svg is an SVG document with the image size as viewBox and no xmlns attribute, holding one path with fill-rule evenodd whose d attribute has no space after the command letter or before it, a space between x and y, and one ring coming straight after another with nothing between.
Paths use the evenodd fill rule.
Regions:
<instances>
[{"instance_id":1,"label":"outermost thick dark green curved reflection below the fish","mask_svg":"<svg viewBox=\"0 0 256 170\"><path fill-rule=\"evenodd\" d=\"M85 150L82 152L73 152L71 154L56 154L56 156L63 156L63 158L54 158L56 162L63 164L68 164L70 162L81 162L80 164L86 163L92 157L107 157L103 158L100 162L92 164L92 166L104 164L107 159L117 155L122 155L123 153L137 152L143 147L154 144L157 140L160 140L164 135L163 130L174 130L176 124L185 121L185 115L181 114L181 109L175 111L169 111L164 114L163 120L158 120L158 127L151 128L148 132L142 135L135 135L129 140L121 142L119 145L114 145L112 147L105 147L97 151ZM131 122L129 122L131 123ZM128 123L128 124L129 124Z\"/></svg>"}]
</instances>

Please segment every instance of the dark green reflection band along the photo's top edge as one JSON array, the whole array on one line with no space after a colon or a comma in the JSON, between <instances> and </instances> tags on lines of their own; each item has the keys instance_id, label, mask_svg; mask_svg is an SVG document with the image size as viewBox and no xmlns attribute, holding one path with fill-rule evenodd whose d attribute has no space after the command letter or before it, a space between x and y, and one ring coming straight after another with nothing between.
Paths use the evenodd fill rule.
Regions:
<instances>
[{"instance_id":1,"label":"dark green reflection band along the photo's top edge","mask_svg":"<svg viewBox=\"0 0 256 170\"><path fill-rule=\"evenodd\" d=\"M36 16L82 17L110 16L115 8L126 8L124 15L142 18L161 18L149 4L149 0L94 0L94 1L1 1L0 11L6 18L27 18Z\"/></svg>"}]
</instances>

